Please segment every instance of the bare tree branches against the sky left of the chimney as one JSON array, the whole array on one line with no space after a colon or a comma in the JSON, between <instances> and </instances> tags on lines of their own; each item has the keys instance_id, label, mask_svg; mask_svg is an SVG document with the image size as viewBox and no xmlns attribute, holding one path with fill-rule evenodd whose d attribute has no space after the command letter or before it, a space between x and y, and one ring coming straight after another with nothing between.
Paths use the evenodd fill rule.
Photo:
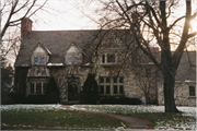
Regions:
<instances>
[{"instance_id":1,"label":"bare tree branches against the sky left of the chimney","mask_svg":"<svg viewBox=\"0 0 197 131\"><path fill-rule=\"evenodd\" d=\"M45 1L37 0L5 0L1 1L1 61L4 58L13 57L16 58L16 55L20 49L20 29L19 25L21 20L24 17L31 17L35 15L37 11L42 10L47 3Z\"/></svg>"}]
</instances>

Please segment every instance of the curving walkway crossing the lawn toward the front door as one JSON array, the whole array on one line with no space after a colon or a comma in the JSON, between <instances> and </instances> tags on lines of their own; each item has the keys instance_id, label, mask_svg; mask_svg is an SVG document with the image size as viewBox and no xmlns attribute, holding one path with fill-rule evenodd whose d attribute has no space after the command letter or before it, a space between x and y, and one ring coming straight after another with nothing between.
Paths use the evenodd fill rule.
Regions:
<instances>
[{"instance_id":1,"label":"curving walkway crossing the lawn toward the front door","mask_svg":"<svg viewBox=\"0 0 197 131\"><path fill-rule=\"evenodd\" d=\"M71 108L71 106L67 106L67 105L62 105L62 107L63 108ZM102 115L115 117L117 119L123 120L131 129L150 129L150 122L148 122L146 120L142 120L142 119L134 118L134 117L130 117L130 116L107 114L107 112L104 112L104 111L84 110L84 109L80 109L80 108L71 108L71 109L83 110L83 111L89 111L89 112L94 112L94 114L102 114Z\"/></svg>"}]
</instances>

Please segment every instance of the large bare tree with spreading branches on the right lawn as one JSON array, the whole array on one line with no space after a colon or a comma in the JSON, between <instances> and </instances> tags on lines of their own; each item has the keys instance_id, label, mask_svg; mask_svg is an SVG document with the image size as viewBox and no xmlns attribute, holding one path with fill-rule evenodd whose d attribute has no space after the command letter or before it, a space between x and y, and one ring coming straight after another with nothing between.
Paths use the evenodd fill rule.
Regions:
<instances>
[{"instance_id":1,"label":"large bare tree with spreading branches on the right lawn","mask_svg":"<svg viewBox=\"0 0 197 131\"><path fill-rule=\"evenodd\" d=\"M101 15L101 28L130 29L130 37L162 72L165 112L177 112L174 99L176 71L187 40L196 36L196 32L190 29L190 21L196 16L196 13L192 14L192 2L185 1L184 15L174 16L173 12L178 12L175 9L179 4L176 0L99 1L102 9L96 13ZM160 48L160 59L151 51L153 46Z\"/></svg>"}]
</instances>

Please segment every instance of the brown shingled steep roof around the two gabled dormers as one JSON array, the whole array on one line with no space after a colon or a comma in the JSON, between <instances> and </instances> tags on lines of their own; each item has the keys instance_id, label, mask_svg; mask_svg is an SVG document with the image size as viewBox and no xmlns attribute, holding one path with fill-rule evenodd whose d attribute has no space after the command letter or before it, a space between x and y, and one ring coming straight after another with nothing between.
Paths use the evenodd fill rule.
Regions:
<instances>
[{"instance_id":1,"label":"brown shingled steep roof around the two gabled dormers","mask_svg":"<svg viewBox=\"0 0 197 131\"><path fill-rule=\"evenodd\" d=\"M86 29L86 31L32 31L30 32L28 36L22 40L21 49L19 56L15 61L15 67L31 67L31 51L33 48L39 43L43 45L43 48L49 50L51 53L48 63L63 63L65 62L65 51L71 44L74 44L80 48L83 53L86 56L91 56L91 48L90 45L86 47L85 45L89 43L97 43L101 34L105 34L105 38L102 39L102 43L105 45L112 45L113 37L116 35L121 40L126 38L121 33L128 34L128 31L125 29L113 29L113 31L102 31L101 34L97 36L97 33L101 32L99 29ZM101 36L102 37L102 36ZM86 58L86 57L84 57ZM84 63L88 62L83 60Z\"/></svg>"}]
</instances>

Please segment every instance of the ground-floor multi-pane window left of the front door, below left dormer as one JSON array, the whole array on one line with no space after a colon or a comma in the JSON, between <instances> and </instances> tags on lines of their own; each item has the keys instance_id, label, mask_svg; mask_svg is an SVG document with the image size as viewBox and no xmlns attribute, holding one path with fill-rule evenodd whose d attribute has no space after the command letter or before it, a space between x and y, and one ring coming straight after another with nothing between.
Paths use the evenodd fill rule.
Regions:
<instances>
[{"instance_id":1,"label":"ground-floor multi-pane window left of the front door, below left dormer","mask_svg":"<svg viewBox=\"0 0 197 131\"><path fill-rule=\"evenodd\" d=\"M47 83L44 82L31 82L30 83L30 94L31 95L42 95L46 92Z\"/></svg>"}]
</instances>

